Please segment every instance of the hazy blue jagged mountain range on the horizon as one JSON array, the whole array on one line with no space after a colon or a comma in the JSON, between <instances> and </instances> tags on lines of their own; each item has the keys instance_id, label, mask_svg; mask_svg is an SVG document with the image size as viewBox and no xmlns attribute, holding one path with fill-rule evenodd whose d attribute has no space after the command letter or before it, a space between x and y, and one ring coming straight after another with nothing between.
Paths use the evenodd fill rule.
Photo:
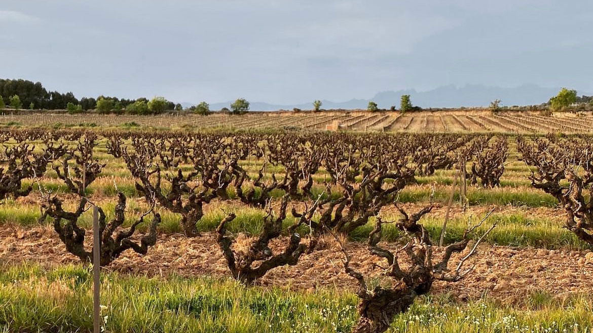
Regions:
<instances>
[{"instance_id":1,"label":"hazy blue jagged mountain range on the horizon","mask_svg":"<svg viewBox=\"0 0 593 333\"><path fill-rule=\"evenodd\" d=\"M369 100L352 99L345 102L322 100L324 109L366 109L369 101L374 101L380 108L390 108L391 105L399 107L401 95L410 95L412 104L423 108L439 107L479 107L488 106L491 101L499 99L501 105L533 105L546 103L550 97L556 95L560 87L544 88L534 84L520 85L514 88L488 87L486 85L466 85L456 87L447 85L429 91L416 91L404 89L398 91L382 91ZM581 93L579 92L579 95ZM210 104L211 110L220 110L229 107L232 101ZM251 111L292 110L301 108L310 110L313 101L301 104L270 104L265 102L250 101ZM190 103L183 103L189 106ZM193 104L195 105L195 103Z\"/></svg>"}]
</instances>

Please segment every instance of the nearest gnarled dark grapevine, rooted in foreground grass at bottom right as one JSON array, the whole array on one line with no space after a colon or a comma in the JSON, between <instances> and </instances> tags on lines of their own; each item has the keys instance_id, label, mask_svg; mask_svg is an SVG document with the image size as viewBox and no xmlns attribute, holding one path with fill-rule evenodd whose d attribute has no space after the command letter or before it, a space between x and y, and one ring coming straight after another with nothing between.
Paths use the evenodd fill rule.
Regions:
<instances>
[{"instance_id":1,"label":"nearest gnarled dark grapevine, rooted in foreground grass at bottom right","mask_svg":"<svg viewBox=\"0 0 593 333\"><path fill-rule=\"evenodd\" d=\"M352 328L352 333L382 333L387 331L395 316L406 312L414 303L416 297L430 292L433 281L459 281L471 270L463 272L461 271L461 267L475 253L477 244L479 244L494 226L484 233L466 256L461 258L454 271L450 271L447 264L451 259L452 253L461 252L467 247L468 234L479 228L492 212L479 224L466 229L461 241L448 245L444 249L444 255L442 255L441 261L435 263L433 262L432 245L428 233L422 225L417 223L420 217L430 212L430 210L431 208L428 207L409 217L407 213L400 209L404 217L397 223L397 226L410 238L406 246L398 250L398 252L403 250L412 262L412 265L406 270L400 267L398 252L391 252L378 245L381 239L382 224L391 222L383 222L378 218L375 229L369 234L369 251L371 254L387 260L387 266L383 268L384 274L397 281L393 288L376 287L372 292L367 290L365 277L350 267L350 256L346 251L345 245L342 244L335 233L331 233L340 244L340 248L344 253L345 260L343 264L346 273L358 281L358 291L356 294L360 299L358 305L360 317L356 325Z\"/></svg>"}]
</instances>

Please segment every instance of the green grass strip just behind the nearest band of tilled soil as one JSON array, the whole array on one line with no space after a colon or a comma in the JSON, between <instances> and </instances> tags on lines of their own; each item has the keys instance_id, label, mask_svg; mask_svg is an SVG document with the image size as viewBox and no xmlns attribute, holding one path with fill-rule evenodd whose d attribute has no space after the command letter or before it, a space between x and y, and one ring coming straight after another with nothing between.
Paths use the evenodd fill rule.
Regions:
<instances>
[{"instance_id":1,"label":"green grass strip just behind the nearest band of tilled soil","mask_svg":"<svg viewBox=\"0 0 593 333\"><path fill-rule=\"evenodd\" d=\"M114 210L114 202L101 203L107 218L111 217ZM72 204L66 204L66 209L72 209ZM127 200L126 222L124 227L129 226L135 222L138 217L147 209L144 203L134 199ZM161 232L164 233L183 233L179 225L180 216L175 213L168 212L164 209L157 209L161 214L162 220L160 225ZM246 232L249 234L259 233L263 226L264 211L261 209L241 206L240 204L221 203L209 209L202 220L198 223L198 229L201 232L213 231L218 226L219 222L226 215L225 212L234 212L237 217L229 223L228 229L232 233ZM38 223L40 216L39 207L31 204L17 205L15 203L5 203L0 210L0 224L12 224L21 226L33 226ZM398 214L384 214L384 220L397 220L400 216ZM315 219L318 218L315 217ZM447 233L445 242L447 244L458 241L463 235L463 230L467 228L468 221L473 220L474 223L481 219L482 216L473 216L472 214L464 214L456 216L449 220L447 226ZM148 228L149 218L145 219L145 223L138 226L138 230L145 232ZM438 239L441 233L443 217L434 217L427 214L421 220L421 223L426 227L432 239ZM591 246L579 241L576 236L567 229L561 228L563 221L561 219L547 218L547 217L530 217L522 213L495 213L490 216L490 219L484 222L481 228L477 229L471 237L474 239L482 235L492 223L497 223L498 226L484 240L489 244L503 245L503 246L533 246L536 248L558 249L589 249ZM47 219L45 223L52 223L52 220ZM284 228L294 223L294 217L288 214L283 222ZM78 225L82 228L90 229L92 225L91 211L82 214ZM374 220L365 226L361 226L354 230L350 236L352 239L364 241L368 238L369 233L374 228ZM308 233L308 229L302 227L299 230L302 235ZM394 224L387 224L383 229L383 239L388 242L396 241L400 232Z\"/></svg>"}]
</instances>

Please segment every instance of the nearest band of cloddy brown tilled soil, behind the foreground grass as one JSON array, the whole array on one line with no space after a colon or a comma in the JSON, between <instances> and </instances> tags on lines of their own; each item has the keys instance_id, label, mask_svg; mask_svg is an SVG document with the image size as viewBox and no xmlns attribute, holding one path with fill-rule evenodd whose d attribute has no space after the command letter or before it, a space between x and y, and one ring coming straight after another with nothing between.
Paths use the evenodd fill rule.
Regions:
<instances>
[{"instance_id":1,"label":"nearest band of cloddy brown tilled soil, behind the foreground grass","mask_svg":"<svg viewBox=\"0 0 593 333\"><path fill-rule=\"evenodd\" d=\"M87 239L92 239L90 232ZM238 236L238 244L244 245L246 240L245 236ZM282 241L275 242L272 247L282 248ZM396 247L394 244L385 246L392 249ZM270 271L260 284L299 290L355 288L353 278L343 273L343 254L337 250L335 242L327 239L320 247L313 254L303 255L294 267ZM369 254L364 244L351 242L347 248L356 270L370 278L381 278L375 264L385 265L384 261ZM436 255L440 252L437 249ZM52 267L77 260L66 252L56 233L49 227L26 230L0 227L0 262L9 265L36 262L43 267ZM451 261L451 267L454 264L455 258ZM459 299L480 297L487 293L503 302L520 302L535 290L559 297L593 291L593 252L480 245L477 257L466 264L467 267L475 265L473 273L458 283L436 283L435 292L451 292ZM229 275L212 233L194 239L176 234L161 235L157 245L149 249L144 257L126 252L108 269L122 274L163 278L169 274L186 277Z\"/></svg>"}]
</instances>

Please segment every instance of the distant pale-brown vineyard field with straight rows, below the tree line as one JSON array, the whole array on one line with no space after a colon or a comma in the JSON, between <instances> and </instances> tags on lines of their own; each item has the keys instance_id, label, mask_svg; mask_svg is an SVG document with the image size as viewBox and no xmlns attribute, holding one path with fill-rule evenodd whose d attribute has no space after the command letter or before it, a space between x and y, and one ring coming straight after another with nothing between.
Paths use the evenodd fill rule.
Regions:
<instances>
[{"instance_id":1,"label":"distant pale-brown vineyard field with straight rows, below the tree line","mask_svg":"<svg viewBox=\"0 0 593 333\"><path fill-rule=\"evenodd\" d=\"M178 127L186 129L300 129L325 130L339 124L340 130L354 132L456 132L456 133L591 133L591 114L489 111L396 112L257 112L240 116L215 113L129 116L100 114L2 114L0 125L10 126L102 126Z\"/></svg>"}]
</instances>

